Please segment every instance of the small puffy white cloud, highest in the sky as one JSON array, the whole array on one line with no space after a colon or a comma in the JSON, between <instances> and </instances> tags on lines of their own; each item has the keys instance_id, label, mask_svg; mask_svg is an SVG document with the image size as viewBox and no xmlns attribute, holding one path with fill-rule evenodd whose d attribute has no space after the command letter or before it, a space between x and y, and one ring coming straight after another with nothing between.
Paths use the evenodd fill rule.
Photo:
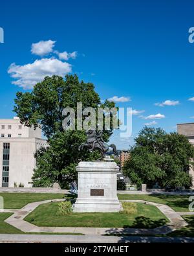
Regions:
<instances>
[{"instance_id":1,"label":"small puffy white cloud, highest in the sky","mask_svg":"<svg viewBox=\"0 0 194 256\"><path fill-rule=\"evenodd\" d=\"M36 54L38 56L44 56L48 53L52 52L54 44L56 41L48 40L48 41L39 41L38 43L32 43L31 52L32 54Z\"/></svg>"}]
</instances>

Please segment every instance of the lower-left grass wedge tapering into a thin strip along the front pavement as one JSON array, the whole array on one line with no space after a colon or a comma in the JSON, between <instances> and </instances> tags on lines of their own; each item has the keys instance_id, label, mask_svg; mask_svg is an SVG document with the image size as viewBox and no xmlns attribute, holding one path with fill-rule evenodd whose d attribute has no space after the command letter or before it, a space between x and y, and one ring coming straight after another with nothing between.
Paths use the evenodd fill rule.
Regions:
<instances>
[{"instance_id":1,"label":"lower-left grass wedge tapering into a thin strip along the front pavement","mask_svg":"<svg viewBox=\"0 0 194 256\"><path fill-rule=\"evenodd\" d=\"M13 213L0 213L0 234L83 235L80 233L25 233L4 221L12 214Z\"/></svg>"}]
</instances>

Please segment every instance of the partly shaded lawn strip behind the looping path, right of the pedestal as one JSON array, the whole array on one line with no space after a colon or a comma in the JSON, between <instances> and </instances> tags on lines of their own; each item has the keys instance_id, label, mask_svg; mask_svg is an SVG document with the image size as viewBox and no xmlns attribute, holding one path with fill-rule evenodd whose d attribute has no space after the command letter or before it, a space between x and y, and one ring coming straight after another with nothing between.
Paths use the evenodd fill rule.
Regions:
<instances>
[{"instance_id":1,"label":"partly shaded lawn strip behind the looping path, right of the pedestal","mask_svg":"<svg viewBox=\"0 0 194 256\"><path fill-rule=\"evenodd\" d=\"M166 194L118 194L119 199L146 200L159 204L166 204L175 211L189 211L189 195Z\"/></svg>"}]
</instances>

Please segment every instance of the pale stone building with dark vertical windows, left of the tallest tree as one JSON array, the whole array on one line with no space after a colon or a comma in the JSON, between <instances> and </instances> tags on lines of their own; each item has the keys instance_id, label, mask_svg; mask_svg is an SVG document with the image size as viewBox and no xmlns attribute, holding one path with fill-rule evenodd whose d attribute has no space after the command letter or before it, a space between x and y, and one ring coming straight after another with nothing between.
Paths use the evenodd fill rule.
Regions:
<instances>
[{"instance_id":1,"label":"pale stone building with dark vertical windows, left of the tallest tree","mask_svg":"<svg viewBox=\"0 0 194 256\"><path fill-rule=\"evenodd\" d=\"M0 119L0 187L14 187L14 183L32 187L34 153L42 146L47 141L40 128L28 128L17 117Z\"/></svg>"}]
</instances>

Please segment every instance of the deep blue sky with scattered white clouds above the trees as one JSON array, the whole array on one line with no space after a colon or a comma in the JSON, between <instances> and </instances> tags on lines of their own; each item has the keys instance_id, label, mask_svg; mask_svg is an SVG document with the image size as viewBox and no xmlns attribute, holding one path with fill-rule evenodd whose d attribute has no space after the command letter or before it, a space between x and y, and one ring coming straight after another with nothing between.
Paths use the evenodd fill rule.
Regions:
<instances>
[{"instance_id":1,"label":"deep blue sky with scattered white clouds above the trees","mask_svg":"<svg viewBox=\"0 0 194 256\"><path fill-rule=\"evenodd\" d=\"M14 117L16 92L28 91L33 72L38 79L46 66L93 82L102 99L116 96L118 106L144 110L133 115L133 137L113 135L118 148L129 148L145 123L171 132L177 123L193 122L193 8L192 1L173 0L3 1L0 118ZM48 54L32 47L48 40L40 45Z\"/></svg>"}]
</instances>

